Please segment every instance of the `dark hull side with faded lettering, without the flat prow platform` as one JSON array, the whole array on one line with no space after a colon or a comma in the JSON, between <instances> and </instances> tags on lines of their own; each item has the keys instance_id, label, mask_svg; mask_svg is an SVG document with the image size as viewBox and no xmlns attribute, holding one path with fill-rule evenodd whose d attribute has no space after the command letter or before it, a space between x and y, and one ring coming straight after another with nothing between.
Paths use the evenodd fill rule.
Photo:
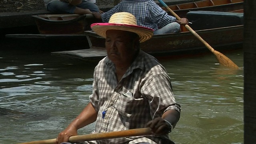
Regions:
<instances>
[{"instance_id":1,"label":"dark hull side with faded lettering, without the flat prow platform","mask_svg":"<svg viewBox=\"0 0 256 144\"><path fill-rule=\"evenodd\" d=\"M198 30L196 32L213 48L221 46L222 50L225 49L225 46L239 44L243 41L243 25ZM104 38L93 32L85 32L85 34L89 36L90 46L104 47ZM190 54L202 49L208 50L191 32L154 35L150 40L141 43L140 48L154 56L174 53Z\"/></svg>"}]
</instances>

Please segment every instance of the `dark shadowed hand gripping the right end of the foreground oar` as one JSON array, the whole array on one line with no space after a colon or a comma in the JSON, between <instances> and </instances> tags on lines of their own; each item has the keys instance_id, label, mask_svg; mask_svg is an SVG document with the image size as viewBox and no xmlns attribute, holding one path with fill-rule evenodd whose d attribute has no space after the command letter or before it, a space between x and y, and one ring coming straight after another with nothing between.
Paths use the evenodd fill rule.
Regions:
<instances>
[{"instance_id":1,"label":"dark shadowed hand gripping the right end of the foreground oar","mask_svg":"<svg viewBox=\"0 0 256 144\"><path fill-rule=\"evenodd\" d=\"M151 128L152 133L156 136L168 134L170 131L169 124L162 118L155 118L146 124L146 127Z\"/></svg>"}]
</instances>

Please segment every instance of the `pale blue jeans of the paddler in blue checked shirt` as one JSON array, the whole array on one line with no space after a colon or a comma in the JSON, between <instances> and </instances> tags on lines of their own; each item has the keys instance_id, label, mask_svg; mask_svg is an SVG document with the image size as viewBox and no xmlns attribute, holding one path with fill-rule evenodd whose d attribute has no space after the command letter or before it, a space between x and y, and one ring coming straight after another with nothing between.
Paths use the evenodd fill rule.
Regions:
<instances>
[{"instance_id":1,"label":"pale blue jeans of the paddler in blue checked shirt","mask_svg":"<svg viewBox=\"0 0 256 144\"><path fill-rule=\"evenodd\" d=\"M178 24L177 22L172 22L158 30L155 30L154 34L169 34L169 33L179 32L179 31L180 31L180 24Z\"/></svg>"}]
</instances>

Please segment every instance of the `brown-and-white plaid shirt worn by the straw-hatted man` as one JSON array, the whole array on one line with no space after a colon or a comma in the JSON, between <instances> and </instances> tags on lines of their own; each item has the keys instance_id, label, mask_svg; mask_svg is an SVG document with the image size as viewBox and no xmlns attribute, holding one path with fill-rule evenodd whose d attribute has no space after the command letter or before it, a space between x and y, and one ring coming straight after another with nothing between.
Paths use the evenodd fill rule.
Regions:
<instances>
[{"instance_id":1,"label":"brown-and-white plaid shirt worn by the straw-hatted man","mask_svg":"<svg viewBox=\"0 0 256 144\"><path fill-rule=\"evenodd\" d=\"M140 51L120 82L117 82L114 64L108 57L102 59L94 70L90 102L98 112L93 133L144 128L147 122L161 117L166 110L180 112L165 68L143 51ZM105 116L103 111L106 112ZM167 144L164 140L169 140L168 135L114 138L89 143Z\"/></svg>"}]
</instances>

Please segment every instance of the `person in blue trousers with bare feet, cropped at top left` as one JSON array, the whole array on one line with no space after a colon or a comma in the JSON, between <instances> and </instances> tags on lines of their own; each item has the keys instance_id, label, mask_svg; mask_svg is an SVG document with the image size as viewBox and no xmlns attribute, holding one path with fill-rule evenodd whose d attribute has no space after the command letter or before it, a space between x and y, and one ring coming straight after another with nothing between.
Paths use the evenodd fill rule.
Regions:
<instances>
[{"instance_id":1,"label":"person in blue trousers with bare feet, cropped at top left","mask_svg":"<svg viewBox=\"0 0 256 144\"><path fill-rule=\"evenodd\" d=\"M92 14L99 13L96 4L87 0L44 0L46 10L56 14Z\"/></svg>"}]
</instances>

